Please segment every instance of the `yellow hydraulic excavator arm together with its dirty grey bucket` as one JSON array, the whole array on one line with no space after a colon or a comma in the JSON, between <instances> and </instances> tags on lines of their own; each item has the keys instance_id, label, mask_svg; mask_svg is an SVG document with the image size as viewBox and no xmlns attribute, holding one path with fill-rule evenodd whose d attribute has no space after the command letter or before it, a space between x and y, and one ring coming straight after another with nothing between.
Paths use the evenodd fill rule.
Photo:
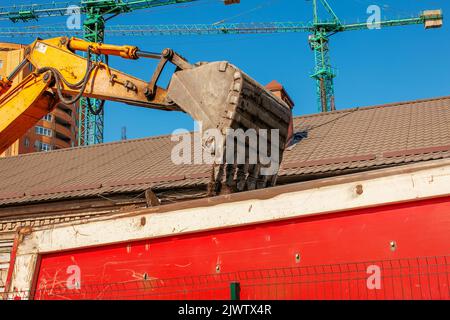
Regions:
<instances>
[{"instance_id":1,"label":"yellow hydraulic excavator arm together with its dirty grey bucket","mask_svg":"<svg viewBox=\"0 0 450 320\"><path fill-rule=\"evenodd\" d=\"M77 52L84 52L87 57ZM92 62L92 55L159 59L159 64L146 82L106 63ZM157 86L157 82L168 62L176 66L176 71L165 89ZM30 64L33 72L13 86L17 74ZM281 99L228 62L191 65L171 49L159 54L140 51L135 46L91 43L77 38L38 39L26 47L22 63L0 80L0 153L57 104L71 105L82 97L186 112L201 122L204 130L218 129L225 137L224 150L229 129L254 129L257 133L261 129L278 129L279 162L291 120L291 111ZM91 112L98 111L88 107ZM211 140L203 143L211 147ZM276 174L261 174L267 163L240 165L225 160L224 157L212 173L216 193L223 191L222 185L243 191L275 184Z\"/></svg>"}]
</instances>

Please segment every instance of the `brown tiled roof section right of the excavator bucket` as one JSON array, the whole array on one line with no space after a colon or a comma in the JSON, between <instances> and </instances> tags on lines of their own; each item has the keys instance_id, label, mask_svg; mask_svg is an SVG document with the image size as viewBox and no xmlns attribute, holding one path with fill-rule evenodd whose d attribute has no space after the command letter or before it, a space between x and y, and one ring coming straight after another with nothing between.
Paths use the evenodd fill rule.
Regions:
<instances>
[{"instance_id":1,"label":"brown tiled roof section right of the excavator bucket","mask_svg":"<svg viewBox=\"0 0 450 320\"><path fill-rule=\"evenodd\" d=\"M450 157L450 97L295 119L301 141L282 175L372 169Z\"/></svg>"}]
</instances>

